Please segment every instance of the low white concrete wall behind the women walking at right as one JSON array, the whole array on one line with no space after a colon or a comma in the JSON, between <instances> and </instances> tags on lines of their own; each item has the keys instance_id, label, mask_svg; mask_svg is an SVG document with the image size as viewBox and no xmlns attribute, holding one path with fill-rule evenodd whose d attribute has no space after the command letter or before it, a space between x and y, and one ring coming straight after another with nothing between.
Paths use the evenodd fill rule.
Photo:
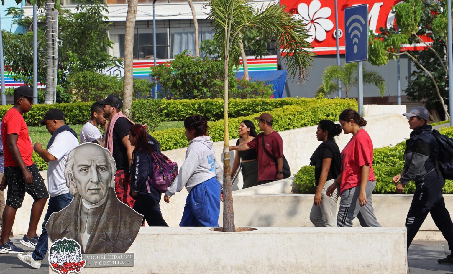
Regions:
<instances>
[{"instance_id":1,"label":"low white concrete wall behind the women walking at right","mask_svg":"<svg viewBox=\"0 0 453 274\"><path fill-rule=\"evenodd\" d=\"M296 186L297 187L297 186ZM236 226L313 226L310 210L314 194L294 194L293 178L233 192ZM383 227L405 227L413 195L374 194L373 208ZM453 195L443 195L450 215L453 214ZM337 207L340 201L338 200ZM222 208L219 224L222 226ZM360 227L358 220L353 226ZM428 215L415 240L443 240L442 233Z\"/></svg>"}]
</instances>

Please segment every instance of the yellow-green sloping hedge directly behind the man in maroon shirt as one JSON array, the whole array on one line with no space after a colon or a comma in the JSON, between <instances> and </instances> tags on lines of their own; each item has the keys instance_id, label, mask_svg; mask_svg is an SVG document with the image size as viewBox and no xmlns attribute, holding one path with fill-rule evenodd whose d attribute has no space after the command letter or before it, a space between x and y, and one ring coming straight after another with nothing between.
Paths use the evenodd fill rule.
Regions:
<instances>
[{"instance_id":1,"label":"yellow-green sloping hedge directly behind the man in maroon shirt","mask_svg":"<svg viewBox=\"0 0 453 274\"><path fill-rule=\"evenodd\" d=\"M248 99L246 99L248 100ZM250 99L257 100L257 99ZM275 99L272 99L275 100ZM293 105L282 106L273 111L268 111L274 118L273 128L277 131L291 130L299 127L316 125L319 120L329 119L338 120L338 115L346 108L357 108L357 101L353 99L294 99ZM258 123L254 117L259 116L260 112L252 115L228 119L228 131L230 139L239 138L237 130L242 120L252 120L258 128ZM223 140L223 120L210 121L209 136L212 141ZM152 135L159 140L162 150L178 149L188 145L184 128L158 130Z\"/></svg>"}]
</instances>

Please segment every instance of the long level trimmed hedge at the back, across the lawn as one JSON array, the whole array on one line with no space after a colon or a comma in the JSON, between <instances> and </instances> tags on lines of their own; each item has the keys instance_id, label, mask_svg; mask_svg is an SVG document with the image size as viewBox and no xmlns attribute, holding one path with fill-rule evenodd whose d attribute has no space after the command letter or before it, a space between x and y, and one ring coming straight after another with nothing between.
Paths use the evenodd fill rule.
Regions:
<instances>
[{"instance_id":1,"label":"long level trimmed hedge at the back, across the lawn","mask_svg":"<svg viewBox=\"0 0 453 274\"><path fill-rule=\"evenodd\" d=\"M336 105L344 99L331 100ZM228 101L229 117L237 118L255 113L269 112L284 106L316 106L319 100L315 98L283 98L283 99L230 99ZM61 103L53 105L34 105L32 110L24 114L27 125L39 125L44 114L52 109L59 108L66 115L67 124L85 124L90 117L92 102ZM348 105L349 106L349 105ZM0 117L3 117L11 105L0 106ZM210 121L223 118L223 100L221 99L184 99L161 100L139 99L132 105L133 119L137 123L147 124L153 128L159 121L181 121L194 114L205 116Z\"/></svg>"}]
</instances>

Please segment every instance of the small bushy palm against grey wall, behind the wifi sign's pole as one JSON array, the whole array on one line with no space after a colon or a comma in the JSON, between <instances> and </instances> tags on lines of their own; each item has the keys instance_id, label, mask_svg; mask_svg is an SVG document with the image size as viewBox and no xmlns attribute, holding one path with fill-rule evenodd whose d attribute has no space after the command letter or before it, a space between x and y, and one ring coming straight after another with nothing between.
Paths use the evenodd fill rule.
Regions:
<instances>
[{"instance_id":1,"label":"small bushy palm against grey wall, behind the wifi sign's pole","mask_svg":"<svg viewBox=\"0 0 453 274\"><path fill-rule=\"evenodd\" d=\"M352 87L358 87L357 63L348 63L343 66L328 66L323 72L323 83L316 91L318 96L330 95L337 92L338 80L341 80L341 89L345 92L346 98ZM373 85L379 89L381 96L386 93L386 80L376 71L367 70L363 66L363 84Z\"/></svg>"}]
</instances>

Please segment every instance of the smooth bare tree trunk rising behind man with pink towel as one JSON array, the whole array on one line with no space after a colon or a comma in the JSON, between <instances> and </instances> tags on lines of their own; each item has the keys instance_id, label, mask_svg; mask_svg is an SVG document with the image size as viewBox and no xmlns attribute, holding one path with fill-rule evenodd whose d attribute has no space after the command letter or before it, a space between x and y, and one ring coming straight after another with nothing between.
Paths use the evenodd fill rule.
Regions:
<instances>
[{"instance_id":1,"label":"smooth bare tree trunk rising behind man with pink towel","mask_svg":"<svg viewBox=\"0 0 453 274\"><path fill-rule=\"evenodd\" d=\"M124 33L123 113L128 116L132 107L132 87L134 83L134 29L137 3L138 0L127 0L126 27Z\"/></svg>"}]
</instances>

